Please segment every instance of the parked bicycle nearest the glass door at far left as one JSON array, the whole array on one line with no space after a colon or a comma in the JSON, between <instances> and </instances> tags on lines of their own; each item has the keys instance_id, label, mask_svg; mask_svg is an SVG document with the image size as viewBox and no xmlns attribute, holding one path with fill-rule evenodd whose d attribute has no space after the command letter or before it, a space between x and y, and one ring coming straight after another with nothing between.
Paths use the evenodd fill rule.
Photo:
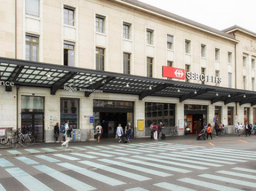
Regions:
<instances>
[{"instance_id":1,"label":"parked bicycle nearest the glass door at far left","mask_svg":"<svg viewBox=\"0 0 256 191\"><path fill-rule=\"evenodd\" d=\"M35 143L35 138L32 134L23 134L21 129L15 130L14 135L9 139L9 145L12 148L16 148L18 144L22 146L33 145Z\"/></svg>"}]
</instances>

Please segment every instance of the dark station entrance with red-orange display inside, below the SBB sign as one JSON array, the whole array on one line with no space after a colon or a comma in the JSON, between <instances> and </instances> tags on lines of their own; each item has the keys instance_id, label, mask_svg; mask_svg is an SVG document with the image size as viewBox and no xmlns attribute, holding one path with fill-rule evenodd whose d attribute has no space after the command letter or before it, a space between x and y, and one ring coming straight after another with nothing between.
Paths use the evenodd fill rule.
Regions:
<instances>
[{"instance_id":1,"label":"dark station entrance with red-orange display inside, below the SBB sign","mask_svg":"<svg viewBox=\"0 0 256 191\"><path fill-rule=\"evenodd\" d=\"M190 125L191 134L199 134L207 124L207 105L184 104L185 125Z\"/></svg>"}]
</instances>

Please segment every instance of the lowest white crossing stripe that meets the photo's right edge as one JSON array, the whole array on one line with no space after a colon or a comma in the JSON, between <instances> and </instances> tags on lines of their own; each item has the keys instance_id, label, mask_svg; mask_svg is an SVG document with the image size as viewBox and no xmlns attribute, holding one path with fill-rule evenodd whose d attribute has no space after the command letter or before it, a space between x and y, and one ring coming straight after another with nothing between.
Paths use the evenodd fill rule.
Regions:
<instances>
[{"instance_id":1,"label":"lowest white crossing stripe that meets the photo's right edge","mask_svg":"<svg viewBox=\"0 0 256 191\"><path fill-rule=\"evenodd\" d=\"M211 175L211 174L201 174L201 175L198 175L198 176L201 176L201 177L204 177L204 178L215 179L216 181L222 181L222 182L226 182L226 183L229 183L229 184L230 183L239 184L239 185L243 185L243 186L249 186L249 187L256 188L256 183L241 181L240 179L227 178L227 177L224 177L224 176L215 176L215 175Z\"/></svg>"}]
</instances>

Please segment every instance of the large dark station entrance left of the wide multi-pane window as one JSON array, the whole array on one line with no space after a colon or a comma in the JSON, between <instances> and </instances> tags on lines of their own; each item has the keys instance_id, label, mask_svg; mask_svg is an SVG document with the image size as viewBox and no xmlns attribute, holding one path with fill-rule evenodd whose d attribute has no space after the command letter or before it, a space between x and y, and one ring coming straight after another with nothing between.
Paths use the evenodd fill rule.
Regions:
<instances>
[{"instance_id":1,"label":"large dark station entrance left of the wide multi-pane window","mask_svg":"<svg viewBox=\"0 0 256 191\"><path fill-rule=\"evenodd\" d=\"M109 101L109 100L94 100L93 101L93 116L94 128L98 123L103 128L102 137L113 138L116 134L116 128L121 124L123 131L127 123L131 123L134 127L133 102L129 101ZM132 131L134 132L134 131ZM133 134L132 134L133 136Z\"/></svg>"}]
</instances>

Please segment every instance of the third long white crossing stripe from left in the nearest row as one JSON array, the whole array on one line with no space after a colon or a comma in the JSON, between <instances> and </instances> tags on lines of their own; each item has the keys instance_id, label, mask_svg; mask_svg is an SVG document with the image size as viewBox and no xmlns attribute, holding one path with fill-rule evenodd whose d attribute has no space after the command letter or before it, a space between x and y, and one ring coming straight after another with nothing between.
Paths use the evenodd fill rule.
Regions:
<instances>
[{"instance_id":1,"label":"third long white crossing stripe from left in the nearest row","mask_svg":"<svg viewBox=\"0 0 256 191\"><path fill-rule=\"evenodd\" d=\"M90 171L86 168L82 168L82 167L79 167L79 166L76 166L76 165L73 165L73 164L70 164L70 163L60 163L58 165L60 165L62 167L65 167L65 168L68 168L68 169L71 169L72 171L75 171L76 173L82 174L84 176L88 176L92 179L95 179L96 181L99 181L99 182L102 182L102 183L105 183L105 184L109 184L111 186L126 184L126 183L124 183L122 181L119 181L117 179L114 179L114 178L111 178L111 177L108 177L108 176L105 176L105 175L102 175L102 174L99 174L99 173L95 173L95 172Z\"/></svg>"}]
</instances>

